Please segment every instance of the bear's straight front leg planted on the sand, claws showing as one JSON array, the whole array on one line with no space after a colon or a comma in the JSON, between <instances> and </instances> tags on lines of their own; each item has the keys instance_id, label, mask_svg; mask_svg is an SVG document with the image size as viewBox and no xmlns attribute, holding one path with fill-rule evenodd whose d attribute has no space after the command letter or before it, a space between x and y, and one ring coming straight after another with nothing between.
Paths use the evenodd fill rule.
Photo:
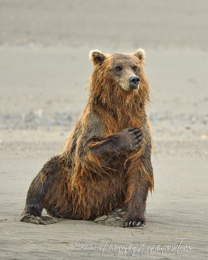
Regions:
<instances>
[{"instance_id":1,"label":"bear's straight front leg planted on the sand, claws showing","mask_svg":"<svg viewBox=\"0 0 208 260\"><path fill-rule=\"evenodd\" d=\"M133 160L126 175L126 216L123 227L145 225L144 217L148 190L154 187L153 169L150 157Z\"/></svg>"}]
</instances>

